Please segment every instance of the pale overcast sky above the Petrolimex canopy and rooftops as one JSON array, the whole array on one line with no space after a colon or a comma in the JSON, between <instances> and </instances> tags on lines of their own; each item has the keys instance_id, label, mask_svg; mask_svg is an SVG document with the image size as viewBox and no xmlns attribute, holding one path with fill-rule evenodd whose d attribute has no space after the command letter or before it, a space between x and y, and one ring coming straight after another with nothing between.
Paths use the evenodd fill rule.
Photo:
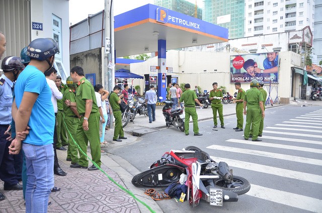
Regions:
<instances>
[{"instance_id":1,"label":"pale overcast sky above the Petrolimex canopy and rooftops","mask_svg":"<svg viewBox=\"0 0 322 213\"><path fill-rule=\"evenodd\" d=\"M195 0L187 0L195 3ZM69 1L69 23L73 25L87 19L89 14L97 14L104 10L104 0L70 0ZM202 0L197 0L201 6ZM153 0L114 0L114 16L133 10L146 4L153 4Z\"/></svg>"}]
</instances>

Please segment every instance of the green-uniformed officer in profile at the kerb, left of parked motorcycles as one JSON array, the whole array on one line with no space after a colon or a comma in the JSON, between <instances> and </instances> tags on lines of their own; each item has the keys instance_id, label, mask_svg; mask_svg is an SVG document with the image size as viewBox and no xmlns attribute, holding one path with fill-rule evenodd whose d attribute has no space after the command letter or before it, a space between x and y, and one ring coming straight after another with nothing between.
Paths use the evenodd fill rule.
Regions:
<instances>
[{"instance_id":1,"label":"green-uniformed officer in profile at the kerb, left of parked motorcycles","mask_svg":"<svg viewBox=\"0 0 322 213\"><path fill-rule=\"evenodd\" d=\"M120 108L121 99L123 99L123 94L118 96L118 93L121 91L121 87L116 85L113 88L113 92L110 93L109 101L111 108L113 110L113 116L115 120L115 129L113 141L121 142L121 139L127 139L124 137L124 131L122 127L122 112Z\"/></svg>"}]
</instances>

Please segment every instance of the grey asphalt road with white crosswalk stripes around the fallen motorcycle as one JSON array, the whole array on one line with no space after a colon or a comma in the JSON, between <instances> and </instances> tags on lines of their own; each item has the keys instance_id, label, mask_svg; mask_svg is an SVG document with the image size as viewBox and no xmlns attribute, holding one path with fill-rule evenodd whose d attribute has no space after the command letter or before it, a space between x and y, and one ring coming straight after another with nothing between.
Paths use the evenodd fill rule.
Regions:
<instances>
[{"instance_id":1,"label":"grey asphalt road with white crosswalk stripes around the fallen motorcycle","mask_svg":"<svg viewBox=\"0 0 322 213\"><path fill-rule=\"evenodd\" d=\"M235 132L235 116L225 117L224 123L226 129L213 131L212 120L199 122L203 136L198 137L193 136L192 124L189 136L174 127L163 128L109 152L142 172L166 151L196 146L215 161L228 163L234 175L252 185L238 202L225 202L223 207L204 201L195 208L186 201L157 201L164 212L322 212L321 107L267 109L263 142L245 141L243 132Z\"/></svg>"}]
</instances>

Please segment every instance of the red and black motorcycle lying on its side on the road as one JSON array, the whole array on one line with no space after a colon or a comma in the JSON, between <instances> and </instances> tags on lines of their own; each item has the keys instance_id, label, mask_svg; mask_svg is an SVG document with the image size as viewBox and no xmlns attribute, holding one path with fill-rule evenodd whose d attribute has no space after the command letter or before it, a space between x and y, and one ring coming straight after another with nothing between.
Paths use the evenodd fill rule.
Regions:
<instances>
[{"instance_id":1,"label":"red and black motorcycle lying on its side on the road","mask_svg":"<svg viewBox=\"0 0 322 213\"><path fill-rule=\"evenodd\" d=\"M243 177L234 176L225 162L215 162L198 147L166 152L150 169L132 179L136 187L167 187L176 183L181 174L188 176L187 200L193 207L204 199L210 205L222 206L223 201L237 201L247 193L251 184Z\"/></svg>"}]
</instances>

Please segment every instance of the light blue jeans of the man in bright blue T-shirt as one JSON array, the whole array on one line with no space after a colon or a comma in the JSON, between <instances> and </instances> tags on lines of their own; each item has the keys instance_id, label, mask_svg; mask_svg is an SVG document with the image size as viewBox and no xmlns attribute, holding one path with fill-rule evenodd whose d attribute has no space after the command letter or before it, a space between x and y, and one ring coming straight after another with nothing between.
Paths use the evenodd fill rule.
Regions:
<instances>
[{"instance_id":1,"label":"light blue jeans of the man in bright blue T-shirt","mask_svg":"<svg viewBox=\"0 0 322 213\"><path fill-rule=\"evenodd\" d=\"M54 187L54 149L52 144L22 145L26 156L26 213L47 212L50 189Z\"/></svg>"}]
</instances>

